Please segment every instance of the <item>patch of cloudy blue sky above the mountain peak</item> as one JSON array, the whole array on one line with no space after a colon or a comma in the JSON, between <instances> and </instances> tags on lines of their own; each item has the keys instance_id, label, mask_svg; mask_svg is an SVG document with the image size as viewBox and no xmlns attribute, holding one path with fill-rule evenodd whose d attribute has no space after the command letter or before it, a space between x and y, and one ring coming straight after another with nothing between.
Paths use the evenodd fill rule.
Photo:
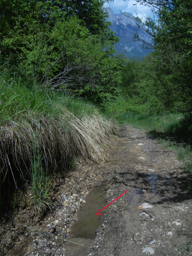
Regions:
<instances>
[{"instance_id":1,"label":"patch of cloudy blue sky above the mountain peak","mask_svg":"<svg viewBox=\"0 0 192 256\"><path fill-rule=\"evenodd\" d=\"M116 14L120 13L120 10L122 12L130 12L135 17L138 15L142 21L145 20L145 17L153 17L149 7L140 4L133 4L136 4L135 0L114 0L109 3L105 3L104 7L110 7Z\"/></svg>"}]
</instances>

